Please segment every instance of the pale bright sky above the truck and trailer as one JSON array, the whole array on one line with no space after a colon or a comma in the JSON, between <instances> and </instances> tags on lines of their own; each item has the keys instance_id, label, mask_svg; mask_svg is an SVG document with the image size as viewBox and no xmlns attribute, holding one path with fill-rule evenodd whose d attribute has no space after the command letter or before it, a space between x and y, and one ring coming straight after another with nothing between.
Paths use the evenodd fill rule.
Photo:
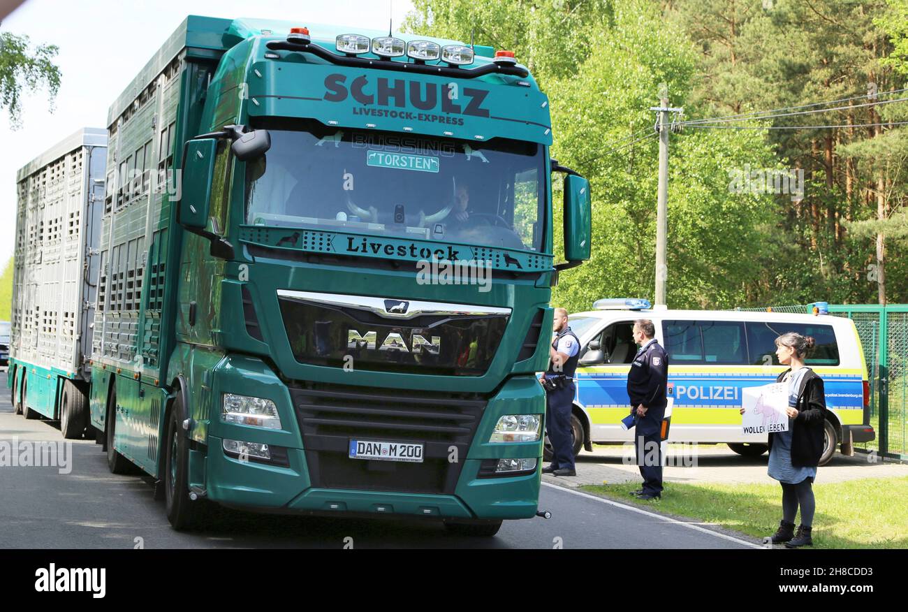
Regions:
<instances>
[{"instance_id":1,"label":"pale bright sky above the truck and trailer","mask_svg":"<svg viewBox=\"0 0 908 612\"><path fill-rule=\"evenodd\" d=\"M370 29L390 18L396 30L411 8L410 0L28 0L0 31L59 46L63 78L53 112L45 92L23 98L16 130L0 112L0 269L14 249L16 171L82 127L106 128L110 104L186 15Z\"/></svg>"}]
</instances>

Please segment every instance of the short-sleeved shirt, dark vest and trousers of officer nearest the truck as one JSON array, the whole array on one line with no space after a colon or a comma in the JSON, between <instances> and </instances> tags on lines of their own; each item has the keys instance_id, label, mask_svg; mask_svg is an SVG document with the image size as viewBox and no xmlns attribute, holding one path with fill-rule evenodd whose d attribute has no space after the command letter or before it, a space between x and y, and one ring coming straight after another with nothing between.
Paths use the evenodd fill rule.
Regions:
<instances>
[{"instance_id":1,"label":"short-sleeved shirt, dark vest and trousers of officer nearest the truck","mask_svg":"<svg viewBox=\"0 0 908 612\"><path fill-rule=\"evenodd\" d=\"M546 390L546 430L552 443L552 469L574 469L574 445L571 442L570 415L574 404L574 371L580 357L580 341L566 327L552 341L552 349L568 355L561 370L549 362L545 378L558 384L556 390Z\"/></svg>"}]
</instances>

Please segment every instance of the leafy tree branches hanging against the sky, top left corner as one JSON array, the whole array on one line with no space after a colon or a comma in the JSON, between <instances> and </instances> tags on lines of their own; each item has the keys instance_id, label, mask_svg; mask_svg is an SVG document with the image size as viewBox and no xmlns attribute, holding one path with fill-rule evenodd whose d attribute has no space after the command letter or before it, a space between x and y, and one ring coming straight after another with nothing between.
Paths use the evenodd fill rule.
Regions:
<instances>
[{"instance_id":1,"label":"leafy tree branches hanging against the sky, top left corner","mask_svg":"<svg viewBox=\"0 0 908 612\"><path fill-rule=\"evenodd\" d=\"M47 90L53 110L60 90L60 69L54 64L55 44L39 44L34 51L28 36L0 32L0 107L9 114L13 127L18 127L22 114L24 91Z\"/></svg>"}]
</instances>

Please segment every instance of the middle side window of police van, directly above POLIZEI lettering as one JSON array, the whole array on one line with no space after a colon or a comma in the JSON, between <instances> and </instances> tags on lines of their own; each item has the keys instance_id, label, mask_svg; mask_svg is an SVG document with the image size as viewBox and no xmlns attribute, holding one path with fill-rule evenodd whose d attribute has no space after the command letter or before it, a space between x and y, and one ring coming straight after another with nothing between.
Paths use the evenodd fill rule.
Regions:
<instances>
[{"instance_id":1,"label":"middle side window of police van, directly above POLIZEI lettering","mask_svg":"<svg viewBox=\"0 0 908 612\"><path fill-rule=\"evenodd\" d=\"M663 321L672 363L745 364L747 337L740 321Z\"/></svg>"}]
</instances>

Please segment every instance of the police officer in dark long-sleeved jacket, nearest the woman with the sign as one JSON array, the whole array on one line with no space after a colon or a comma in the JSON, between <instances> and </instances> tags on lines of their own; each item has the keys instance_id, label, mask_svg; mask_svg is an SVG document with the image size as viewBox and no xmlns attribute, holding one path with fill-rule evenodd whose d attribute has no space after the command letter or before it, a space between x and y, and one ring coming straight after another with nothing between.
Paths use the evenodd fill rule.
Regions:
<instances>
[{"instance_id":1,"label":"police officer in dark long-sleeved jacket, nearest the woman with the sign","mask_svg":"<svg viewBox=\"0 0 908 612\"><path fill-rule=\"evenodd\" d=\"M656 341L653 321L634 322L634 341L640 345L627 373L627 395L630 411L636 417L634 449L643 477L643 488L634 491L640 499L657 499L662 495L662 419L666 413L668 357Z\"/></svg>"}]
</instances>

